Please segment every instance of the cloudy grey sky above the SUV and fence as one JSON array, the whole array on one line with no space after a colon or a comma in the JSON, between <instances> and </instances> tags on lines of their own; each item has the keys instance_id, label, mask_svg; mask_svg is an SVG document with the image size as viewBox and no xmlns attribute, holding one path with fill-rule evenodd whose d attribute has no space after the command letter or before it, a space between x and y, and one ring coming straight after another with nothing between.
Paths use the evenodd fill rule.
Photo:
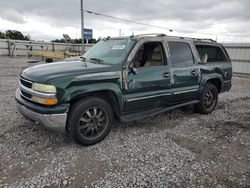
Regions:
<instances>
[{"instance_id":1,"label":"cloudy grey sky above the SUV and fence","mask_svg":"<svg viewBox=\"0 0 250 188\"><path fill-rule=\"evenodd\" d=\"M250 0L83 0L94 38L144 33L250 42ZM148 24L148 25L143 25ZM151 25L151 26L149 26ZM0 31L19 30L33 40L81 37L80 0L0 0ZM171 31L172 32L171 32Z\"/></svg>"}]
</instances>

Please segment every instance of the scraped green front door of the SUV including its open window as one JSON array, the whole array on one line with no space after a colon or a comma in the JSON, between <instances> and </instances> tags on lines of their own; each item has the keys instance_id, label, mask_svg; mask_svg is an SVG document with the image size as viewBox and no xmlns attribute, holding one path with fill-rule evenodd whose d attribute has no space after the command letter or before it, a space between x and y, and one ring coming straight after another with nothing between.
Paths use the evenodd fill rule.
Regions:
<instances>
[{"instance_id":1,"label":"scraped green front door of the SUV including its open window","mask_svg":"<svg viewBox=\"0 0 250 188\"><path fill-rule=\"evenodd\" d=\"M127 78L124 111L143 111L170 101L170 71L161 41L145 42L135 53Z\"/></svg>"}]
</instances>

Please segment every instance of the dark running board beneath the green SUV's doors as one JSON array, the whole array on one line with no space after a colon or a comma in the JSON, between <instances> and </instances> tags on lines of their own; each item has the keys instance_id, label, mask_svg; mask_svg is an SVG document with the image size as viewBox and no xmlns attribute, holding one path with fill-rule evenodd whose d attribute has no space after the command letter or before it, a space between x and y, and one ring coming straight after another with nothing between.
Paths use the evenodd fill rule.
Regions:
<instances>
[{"instance_id":1,"label":"dark running board beneath the green SUV's doors","mask_svg":"<svg viewBox=\"0 0 250 188\"><path fill-rule=\"evenodd\" d=\"M200 102L200 101L195 100L195 101L185 102L185 103L182 103L182 104L177 104L177 105L174 105L174 106L155 108L155 109L152 109L152 110L136 112L136 113L120 116L120 120L122 122L135 121L135 120L138 120L138 119L143 119L143 118L146 118L146 117L155 116L157 114L161 114L163 112L170 111L170 110L173 110L173 109L178 108L178 107L187 106L187 105L191 105L191 104L196 104L198 102Z\"/></svg>"}]
</instances>

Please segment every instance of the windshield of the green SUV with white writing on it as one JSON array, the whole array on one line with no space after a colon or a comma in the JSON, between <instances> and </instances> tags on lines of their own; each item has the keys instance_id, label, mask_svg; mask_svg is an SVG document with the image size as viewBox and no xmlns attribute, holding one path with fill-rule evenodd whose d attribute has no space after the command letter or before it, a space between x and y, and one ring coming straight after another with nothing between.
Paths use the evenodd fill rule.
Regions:
<instances>
[{"instance_id":1,"label":"windshield of the green SUV with white writing on it","mask_svg":"<svg viewBox=\"0 0 250 188\"><path fill-rule=\"evenodd\" d=\"M134 44L135 40L130 38L101 40L83 58L96 63L119 64L128 56Z\"/></svg>"}]
</instances>

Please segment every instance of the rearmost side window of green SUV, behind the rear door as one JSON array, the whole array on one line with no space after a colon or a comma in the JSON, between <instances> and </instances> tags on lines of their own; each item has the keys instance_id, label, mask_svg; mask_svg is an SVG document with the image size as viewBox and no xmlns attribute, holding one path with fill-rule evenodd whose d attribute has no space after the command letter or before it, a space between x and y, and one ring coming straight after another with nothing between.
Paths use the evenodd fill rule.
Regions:
<instances>
[{"instance_id":1,"label":"rearmost side window of green SUV, behind the rear door","mask_svg":"<svg viewBox=\"0 0 250 188\"><path fill-rule=\"evenodd\" d=\"M201 59L207 55L207 62L228 61L220 47L209 45L196 45Z\"/></svg>"}]
</instances>

